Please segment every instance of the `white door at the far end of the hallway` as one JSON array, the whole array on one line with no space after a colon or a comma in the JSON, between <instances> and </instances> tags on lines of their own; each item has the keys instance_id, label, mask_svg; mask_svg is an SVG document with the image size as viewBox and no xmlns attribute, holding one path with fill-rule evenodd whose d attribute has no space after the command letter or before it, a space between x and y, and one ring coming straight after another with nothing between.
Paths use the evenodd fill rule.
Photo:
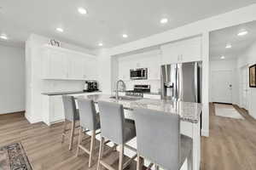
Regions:
<instances>
[{"instance_id":1,"label":"white door at the far end of the hallway","mask_svg":"<svg viewBox=\"0 0 256 170\"><path fill-rule=\"evenodd\" d=\"M232 103L231 71L212 71L212 101Z\"/></svg>"}]
</instances>

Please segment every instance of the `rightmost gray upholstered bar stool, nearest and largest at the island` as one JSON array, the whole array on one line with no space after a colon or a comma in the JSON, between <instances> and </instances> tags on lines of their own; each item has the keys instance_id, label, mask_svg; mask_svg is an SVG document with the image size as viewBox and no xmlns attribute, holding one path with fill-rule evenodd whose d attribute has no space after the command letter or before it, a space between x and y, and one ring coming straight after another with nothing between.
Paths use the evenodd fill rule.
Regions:
<instances>
[{"instance_id":1,"label":"rightmost gray upholstered bar stool, nearest and largest at the island","mask_svg":"<svg viewBox=\"0 0 256 170\"><path fill-rule=\"evenodd\" d=\"M188 168L192 170L192 139L180 134L180 117L163 111L148 109L134 110L137 132L137 170L141 170L143 156L155 164L178 170L188 158Z\"/></svg>"}]
</instances>

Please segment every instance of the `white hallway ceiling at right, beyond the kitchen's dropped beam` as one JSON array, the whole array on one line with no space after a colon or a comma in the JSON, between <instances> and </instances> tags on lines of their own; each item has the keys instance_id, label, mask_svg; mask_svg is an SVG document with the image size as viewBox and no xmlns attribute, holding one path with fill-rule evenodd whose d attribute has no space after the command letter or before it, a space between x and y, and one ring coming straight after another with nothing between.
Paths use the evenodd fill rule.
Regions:
<instances>
[{"instance_id":1,"label":"white hallway ceiling at right, beyond the kitchen's dropped beam","mask_svg":"<svg viewBox=\"0 0 256 170\"><path fill-rule=\"evenodd\" d=\"M247 30L248 34L238 37L237 33L243 29ZM210 33L210 58L220 59L224 55L225 59L235 59L254 41L256 41L256 21L212 31ZM227 43L230 43L232 48L225 48Z\"/></svg>"}]
</instances>

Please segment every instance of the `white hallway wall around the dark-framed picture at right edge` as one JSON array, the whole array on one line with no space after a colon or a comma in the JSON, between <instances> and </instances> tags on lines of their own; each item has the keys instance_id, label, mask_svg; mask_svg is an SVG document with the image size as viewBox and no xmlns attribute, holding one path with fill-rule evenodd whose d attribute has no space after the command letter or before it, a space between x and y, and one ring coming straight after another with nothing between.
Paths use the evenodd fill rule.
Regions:
<instances>
[{"instance_id":1,"label":"white hallway wall around the dark-framed picture at right edge","mask_svg":"<svg viewBox=\"0 0 256 170\"><path fill-rule=\"evenodd\" d=\"M247 50L245 50L237 60L238 69L242 66L256 64L256 42L253 42ZM241 81L241 80L240 80ZM241 91L240 91L240 95ZM256 119L256 88L249 88L248 91L248 112Z\"/></svg>"}]
</instances>

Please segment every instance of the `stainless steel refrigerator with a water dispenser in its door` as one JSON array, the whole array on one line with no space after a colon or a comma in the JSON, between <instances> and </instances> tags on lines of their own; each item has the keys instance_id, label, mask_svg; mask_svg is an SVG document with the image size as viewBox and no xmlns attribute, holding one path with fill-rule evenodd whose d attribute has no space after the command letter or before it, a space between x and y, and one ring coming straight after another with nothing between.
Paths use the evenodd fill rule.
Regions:
<instances>
[{"instance_id":1,"label":"stainless steel refrigerator with a water dispenser in its door","mask_svg":"<svg viewBox=\"0 0 256 170\"><path fill-rule=\"evenodd\" d=\"M161 65L161 97L201 103L201 62Z\"/></svg>"}]
</instances>

